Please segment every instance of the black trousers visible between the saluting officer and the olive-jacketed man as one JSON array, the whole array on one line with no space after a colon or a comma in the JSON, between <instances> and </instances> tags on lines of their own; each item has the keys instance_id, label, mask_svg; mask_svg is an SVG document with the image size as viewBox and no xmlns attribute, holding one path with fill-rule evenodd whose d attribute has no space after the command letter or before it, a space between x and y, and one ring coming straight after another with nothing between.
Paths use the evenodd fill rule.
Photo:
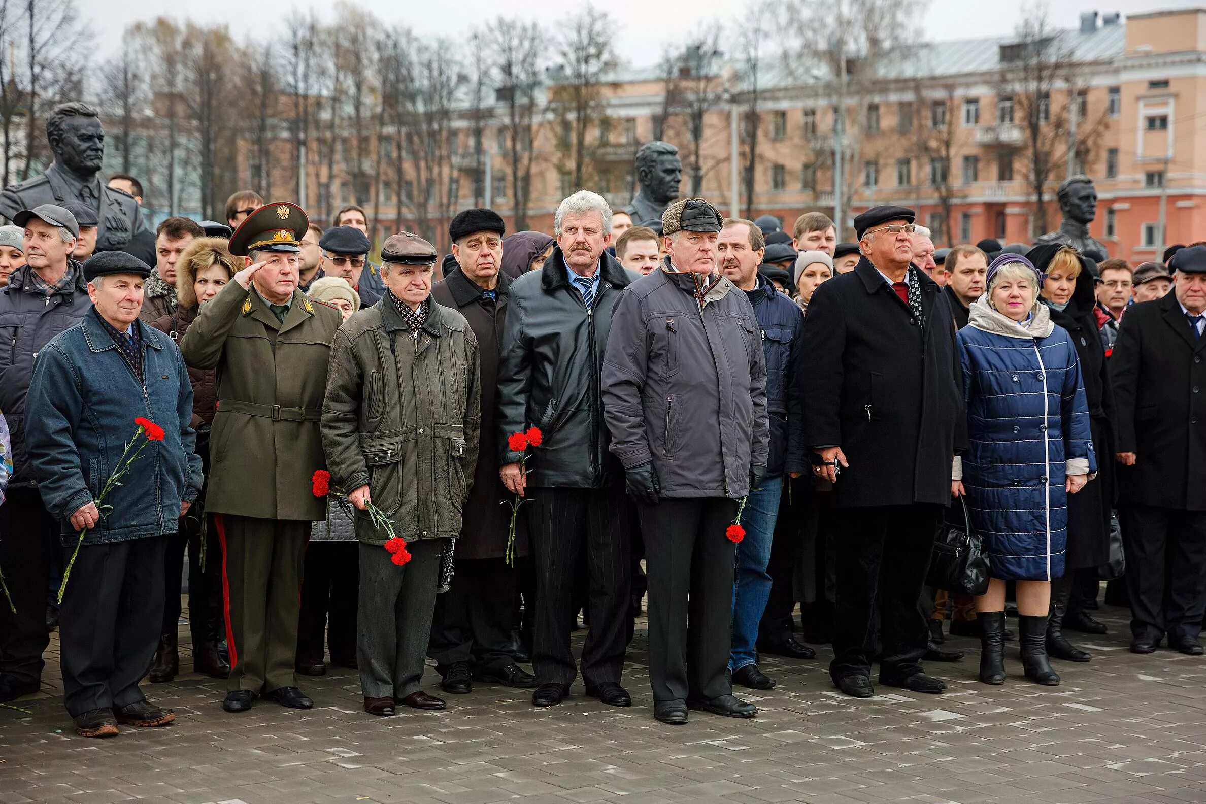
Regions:
<instances>
[{"instance_id":1,"label":"black trousers visible between the saluting officer and the olive-jacketed man","mask_svg":"<svg viewBox=\"0 0 1206 804\"><path fill-rule=\"evenodd\" d=\"M330 661L350 667L356 659L356 609L361 588L358 541L311 541L305 548L297 661Z\"/></svg>"}]
</instances>

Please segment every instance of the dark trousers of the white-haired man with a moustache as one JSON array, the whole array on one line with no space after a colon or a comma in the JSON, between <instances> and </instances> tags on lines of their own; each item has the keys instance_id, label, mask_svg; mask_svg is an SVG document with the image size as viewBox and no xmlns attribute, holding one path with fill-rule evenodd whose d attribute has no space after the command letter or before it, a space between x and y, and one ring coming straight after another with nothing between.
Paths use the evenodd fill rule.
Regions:
<instances>
[{"instance_id":1,"label":"dark trousers of the white-haired man with a moustache","mask_svg":"<svg viewBox=\"0 0 1206 804\"><path fill-rule=\"evenodd\" d=\"M573 683L569 633L574 577L586 554L590 633L582 645L582 679L620 681L632 581L631 503L617 488L528 488L528 534L535 575L532 669L540 683ZM727 632L726 632L727 639Z\"/></svg>"}]
</instances>

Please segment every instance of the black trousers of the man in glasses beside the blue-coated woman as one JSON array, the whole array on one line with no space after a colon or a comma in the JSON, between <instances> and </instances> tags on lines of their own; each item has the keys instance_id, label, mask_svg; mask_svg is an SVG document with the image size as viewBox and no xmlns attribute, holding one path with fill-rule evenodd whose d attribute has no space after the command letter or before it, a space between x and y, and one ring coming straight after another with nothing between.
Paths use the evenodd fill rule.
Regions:
<instances>
[{"instance_id":1,"label":"black trousers of the man in glasses beside the blue-coated woman","mask_svg":"<svg viewBox=\"0 0 1206 804\"><path fill-rule=\"evenodd\" d=\"M933 552L938 505L842 509L830 676L871 675L879 621L879 675L902 680L921 670L929 627L918 608Z\"/></svg>"}]
</instances>

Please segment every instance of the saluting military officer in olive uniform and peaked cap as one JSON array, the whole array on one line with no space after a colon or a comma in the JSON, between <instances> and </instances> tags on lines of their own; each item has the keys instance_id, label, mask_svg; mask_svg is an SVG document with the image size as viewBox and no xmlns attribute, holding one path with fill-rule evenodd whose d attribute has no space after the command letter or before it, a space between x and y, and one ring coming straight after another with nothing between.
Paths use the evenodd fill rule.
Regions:
<instances>
[{"instance_id":1,"label":"saluting military officer in olive uniform and peaked cap","mask_svg":"<svg viewBox=\"0 0 1206 804\"><path fill-rule=\"evenodd\" d=\"M299 247L310 222L294 204L251 213L230 237L247 266L201 305L180 348L217 369L206 507L223 547L230 676L222 708L257 696L298 709L302 568L310 523L324 515L311 477L326 460L318 434L330 341L343 317L298 291Z\"/></svg>"}]
</instances>

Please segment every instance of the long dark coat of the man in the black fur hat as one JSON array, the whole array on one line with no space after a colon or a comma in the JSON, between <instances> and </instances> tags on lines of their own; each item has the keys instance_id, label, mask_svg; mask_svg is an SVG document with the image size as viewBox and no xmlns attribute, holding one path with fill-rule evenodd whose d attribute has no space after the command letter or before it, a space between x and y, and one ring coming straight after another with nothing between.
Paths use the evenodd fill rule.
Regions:
<instances>
[{"instance_id":1,"label":"long dark coat of the man in the black fur hat","mask_svg":"<svg viewBox=\"0 0 1206 804\"><path fill-rule=\"evenodd\" d=\"M510 492L498 477L498 428L494 424L496 399L498 397L498 345L507 321L507 299L511 277L499 272L497 301L484 300L481 288L463 271L449 274L432 287L432 299L452 307L464 316L469 328L478 336L478 365L481 371L481 441L478 445L478 465L474 469L473 488L466 499L461 538L457 540L457 558L504 558L510 527L510 509L503 503ZM527 554L527 545L519 544L519 554ZM526 540L522 540L526 542Z\"/></svg>"}]
</instances>

